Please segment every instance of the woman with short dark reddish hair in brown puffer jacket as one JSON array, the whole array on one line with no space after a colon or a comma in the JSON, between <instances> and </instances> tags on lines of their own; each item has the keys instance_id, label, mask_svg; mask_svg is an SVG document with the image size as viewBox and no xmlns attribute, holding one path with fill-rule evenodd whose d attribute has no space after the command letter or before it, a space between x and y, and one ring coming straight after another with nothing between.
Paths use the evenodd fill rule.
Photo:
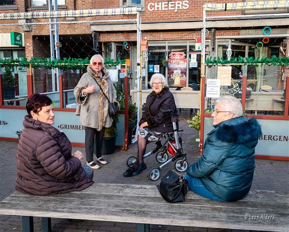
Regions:
<instances>
[{"instance_id":1,"label":"woman with short dark reddish hair in brown puffer jacket","mask_svg":"<svg viewBox=\"0 0 289 232\"><path fill-rule=\"evenodd\" d=\"M82 165L80 151L71 154L71 143L52 125L52 100L40 94L29 97L16 156L15 188L22 193L51 195L80 191L90 186L93 171Z\"/></svg>"}]
</instances>

